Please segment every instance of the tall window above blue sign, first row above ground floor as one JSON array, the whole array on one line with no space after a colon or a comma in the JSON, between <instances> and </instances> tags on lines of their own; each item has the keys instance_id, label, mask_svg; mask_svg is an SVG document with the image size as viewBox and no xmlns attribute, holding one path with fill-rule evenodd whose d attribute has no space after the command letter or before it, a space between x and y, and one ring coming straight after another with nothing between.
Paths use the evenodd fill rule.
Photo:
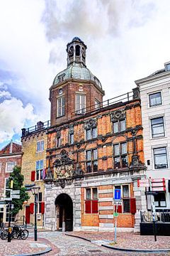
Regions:
<instances>
[{"instance_id":1,"label":"tall window above blue sign, first row above ground floor","mask_svg":"<svg viewBox=\"0 0 170 256\"><path fill-rule=\"evenodd\" d=\"M113 145L115 169L128 166L127 143Z\"/></svg>"}]
</instances>

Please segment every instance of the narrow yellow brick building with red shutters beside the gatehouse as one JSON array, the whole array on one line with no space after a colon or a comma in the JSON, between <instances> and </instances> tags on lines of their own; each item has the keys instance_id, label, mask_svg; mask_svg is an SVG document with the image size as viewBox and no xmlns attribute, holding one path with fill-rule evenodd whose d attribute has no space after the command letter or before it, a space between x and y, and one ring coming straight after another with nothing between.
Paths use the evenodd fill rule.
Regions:
<instances>
[{"instance_id":1,"label":"narrow yellow brick building with red shutters beside the gatehouse","mask_svg":"<svg viewBox=\"0 0 170 256\"><path fill-rule=\"evenodd\" d=\"M18 219L26 217L27 224L34 223L34 196L31 193L32 186L39 186L38 193L38 227L44 224L44 178L46 169L46 149L47 134L46 129L50 127L50 122L38 122L35 127L22 129L22 174L24 176L24 186L27 188L30 199L19 212Z\"/></svg>"}]
</instances>

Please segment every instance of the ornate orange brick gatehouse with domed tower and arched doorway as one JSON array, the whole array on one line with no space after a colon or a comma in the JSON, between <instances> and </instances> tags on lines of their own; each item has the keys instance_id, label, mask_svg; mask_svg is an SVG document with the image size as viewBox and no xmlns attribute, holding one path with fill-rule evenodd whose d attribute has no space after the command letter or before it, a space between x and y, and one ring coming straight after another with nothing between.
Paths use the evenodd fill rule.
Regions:
<instances>
[{"instance_id":1,"label":"ornate orange brick gatehouse with domed tower and arched doorway","mask_svg":"<svg viewBox=\"0 0 170 256\"><path fill-rule=\"evenodd\" d=\"M118 229L139 230L145 178L139 90L103 102L101 82L86 68L86 45L67 44L67 68L50 87L45 228L113 230L113 195L121 189ZM24 137L24 134L23 134Z\"/></svg>"}]
</instances>

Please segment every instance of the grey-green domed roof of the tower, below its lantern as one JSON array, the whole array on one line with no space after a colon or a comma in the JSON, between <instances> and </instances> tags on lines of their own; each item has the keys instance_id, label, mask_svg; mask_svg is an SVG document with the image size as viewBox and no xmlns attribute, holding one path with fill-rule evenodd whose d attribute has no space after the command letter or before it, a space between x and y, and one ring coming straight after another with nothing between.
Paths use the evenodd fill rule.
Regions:
<instances>
[{"instance_id":1,"label":"grey-green domed roof of the tower, below its lantern","mask_svg":"<svg viewBox=\"0 0 170 256\"><path fill-rule=\"evenodd\" d=\"M98 80L98 78L96 78L96 76L93 75L88 68L86 68L84 65L81 65L80 63L74 63L72 65L69 65L68 68L58 73L55 77L53 85L63 82L64 80L67 80L69 78L91 80L102 89L101 82Z\"/></svg>"}]
</instances>

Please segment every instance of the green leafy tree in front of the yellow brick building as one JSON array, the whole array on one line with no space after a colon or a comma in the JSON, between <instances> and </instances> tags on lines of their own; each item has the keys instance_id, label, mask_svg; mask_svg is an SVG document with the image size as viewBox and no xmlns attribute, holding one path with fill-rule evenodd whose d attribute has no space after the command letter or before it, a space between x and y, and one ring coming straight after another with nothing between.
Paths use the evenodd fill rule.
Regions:
<instances>
[{"instance_id":1,"label":"green leafy tree in front of the yellow brick building","mask_svg":"<svg viewBox=\"0 0 170 256\"><path fill-rule=\"evenodd\" d=\"M28 201L30 198L26 188L23 186L24 177L21 174L21 167L15 166L13 172L10 174L9 181L13 180L13 190L20 190L20 199L13 199L13 210L12 213L16 215L19 210L23 209L23 202Z\"/></svg>"}]
</instances>

